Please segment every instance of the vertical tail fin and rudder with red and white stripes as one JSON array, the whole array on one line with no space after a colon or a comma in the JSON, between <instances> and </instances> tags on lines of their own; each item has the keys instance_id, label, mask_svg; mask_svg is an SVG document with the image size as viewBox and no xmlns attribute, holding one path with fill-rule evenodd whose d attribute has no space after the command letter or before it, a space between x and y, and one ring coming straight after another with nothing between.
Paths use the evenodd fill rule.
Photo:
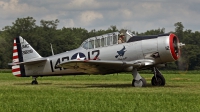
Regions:
<instances>
[{"instance_id":1,"label":"vertical tail fin and rudder with red and white stripes","mask_svg":"<svg viewBox=\"0 0 200 112\"><path fill-rule=\"evenodd\" d=\"M25 62L31 59L41 58L32 46L22 37L14 39L13 44L13 63ZM12 66L12 73L18 77L25 77L24 65Z\"/></svg>"}]
</instances>

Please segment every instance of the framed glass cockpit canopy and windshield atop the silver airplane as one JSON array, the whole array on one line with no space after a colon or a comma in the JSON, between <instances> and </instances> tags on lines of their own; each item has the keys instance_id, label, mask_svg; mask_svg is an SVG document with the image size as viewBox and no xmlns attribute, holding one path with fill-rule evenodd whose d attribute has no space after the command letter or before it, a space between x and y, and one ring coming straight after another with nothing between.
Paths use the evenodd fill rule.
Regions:
<instances>
[{"instance_id":1,"label":"framed glass cockpit canopy and windshield atop the silver airplane","mask_svg":"<svg viewBox=\"0 0 200 112\"><path fill-rule=\"evenodd\" d=\"M118 43L119 34L120 34L119 32L113 32L113 33L108 33L108 34L88 38L81 44L81 47L85 49L94 49L94 48L119 44ZM132 36L134 35L130 31L126 31L124 41L127 42L128 39Z\"/></svg>"}]
</instances>

